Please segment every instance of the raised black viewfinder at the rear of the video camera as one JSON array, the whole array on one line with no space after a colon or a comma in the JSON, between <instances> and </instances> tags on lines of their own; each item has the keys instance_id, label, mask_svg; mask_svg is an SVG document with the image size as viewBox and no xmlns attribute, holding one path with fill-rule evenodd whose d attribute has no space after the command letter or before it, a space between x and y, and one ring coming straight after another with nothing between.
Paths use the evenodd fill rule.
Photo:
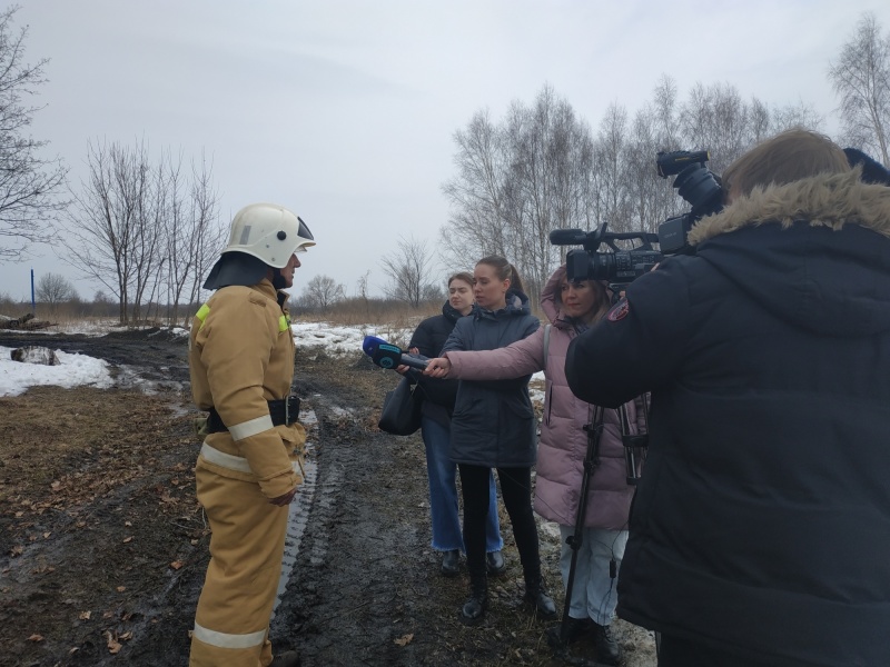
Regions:
<instances>
[{"instance_id":1,"label":"raised black viewfinder at the rear of the video camera","mask_svg":"<svg viewBox=\"0 0 890 667\"><path fill-rule=\"evenodd\" d=\"M689 230L696 220L723 208L723 188L714 172L704 166L710 158L706 150L675 150L659 152L655 159L659 176L676 175L673 186L678 195L692 205L690 212L659 225L659 249L664 255L692 253L692 246L686 242Z\"/></svg>"}]
</instances>

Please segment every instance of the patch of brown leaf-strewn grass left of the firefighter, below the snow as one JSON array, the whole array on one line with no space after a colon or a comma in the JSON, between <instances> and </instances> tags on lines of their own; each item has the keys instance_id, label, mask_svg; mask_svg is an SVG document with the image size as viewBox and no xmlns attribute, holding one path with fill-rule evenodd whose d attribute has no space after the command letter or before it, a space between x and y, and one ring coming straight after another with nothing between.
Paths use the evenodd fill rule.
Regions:
<instances>
[{"instance_id":1,"label":"patch of brown leaf-strewn grass left of the firefighter, below the snow","mask_svg":"<svg viewBox=\"0 0 890 667\"><path fill-rule=\"evenodd\" d=\"M165 398L37 388L0 399L0 431L9 436L0 442L2 514L22 518L68 510L134 481L157 481L164 471L175 481L162 502L171 504L180 495L177 490L186 487L194 497L197 451L189 447L190 438L178 435L177 424L186 417L171 415ZM171 456L179 460L170 461ZM150 492L151 487L145 490Z\"/></svg>"}]
</instances>

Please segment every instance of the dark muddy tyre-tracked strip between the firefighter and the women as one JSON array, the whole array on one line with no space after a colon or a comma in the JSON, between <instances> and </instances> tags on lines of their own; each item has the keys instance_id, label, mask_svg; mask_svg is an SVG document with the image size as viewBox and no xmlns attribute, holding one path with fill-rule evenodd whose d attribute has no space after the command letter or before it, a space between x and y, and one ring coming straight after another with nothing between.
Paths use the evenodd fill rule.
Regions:
<instances>
[{"instance_id":1,"label":"dark muddy tyre-tracked strip between the firefighter and the women","mask_svg":"<svg viewBox=\"0 0 890 667\"><path fill-rule=\"evenodd\" d=\"M413 649L394 640L409 631L403 557L425 548L425 532L398 507L403 491L425 492L425 475L418 470L422 487L403 488L390 458L400 448L365 428L367 408L330 395L306 402L318 418L312 457L318 468L307 529L271 623L273 643L276 650L296 648L306 665L416 664L402 663Z\"/></svg>"}]
</instances>

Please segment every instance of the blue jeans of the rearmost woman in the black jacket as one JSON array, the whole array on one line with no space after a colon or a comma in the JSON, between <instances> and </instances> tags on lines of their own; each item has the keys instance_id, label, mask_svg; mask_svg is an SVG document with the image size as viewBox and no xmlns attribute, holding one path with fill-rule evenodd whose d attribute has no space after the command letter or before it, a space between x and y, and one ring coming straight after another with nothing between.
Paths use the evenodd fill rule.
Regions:
<instances>
[{"instance_id":1,"label":"blue jeans of the rearmost woman in the black jacket","mask_svg":"<svg viewBox=\"0 0 890 667\"><path fill-rule=\"evenodd\" d=\"M433 548L437 551L464 551L461 515L457 510L457 465L451 459L451 428L424 416L421 432L426 446L426 474L429 477L429 512L433 519ZM497 518L497 487L488 478L488 519L485 524L485 550L504 548Z\"/></svg>"}]
</instances>

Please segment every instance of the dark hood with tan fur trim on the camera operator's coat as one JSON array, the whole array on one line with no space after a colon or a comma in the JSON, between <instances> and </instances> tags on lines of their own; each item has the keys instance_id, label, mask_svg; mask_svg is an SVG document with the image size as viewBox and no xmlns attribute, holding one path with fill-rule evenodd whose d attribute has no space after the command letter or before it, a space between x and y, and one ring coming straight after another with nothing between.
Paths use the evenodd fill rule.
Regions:
<instances>
[{"instance_id":1,"label":"dark hood with tan fur trim on the camera operator's coat","mask_svg":"<svg viewBox=\"0 0 890 667\"><path fill-rule=\"evenodd\" d=\"M890 188L859 169L755 190L689 236L685 259L784 321L825 336L890 329Z\"/></svg>"}]
</instances>

